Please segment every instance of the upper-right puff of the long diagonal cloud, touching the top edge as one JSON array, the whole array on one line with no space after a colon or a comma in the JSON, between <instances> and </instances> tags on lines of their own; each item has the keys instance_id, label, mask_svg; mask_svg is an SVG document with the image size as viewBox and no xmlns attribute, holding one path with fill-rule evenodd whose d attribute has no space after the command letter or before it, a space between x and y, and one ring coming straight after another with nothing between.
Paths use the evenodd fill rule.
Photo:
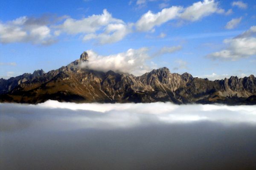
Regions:
<instances>
[{"instance_id":1,"label":"upper-right puff of the long diagonal cloud, touching the top edge","mask_svg":"<svg viewBox=\"0 0 256 170\"><path fill-rule=\"evenodd\" d=\"M214 0L204 0L193 3L180 15L183 20L196 21L213 13L223 13L224 10L218 7Z\"/></svg>"}]
</instances>

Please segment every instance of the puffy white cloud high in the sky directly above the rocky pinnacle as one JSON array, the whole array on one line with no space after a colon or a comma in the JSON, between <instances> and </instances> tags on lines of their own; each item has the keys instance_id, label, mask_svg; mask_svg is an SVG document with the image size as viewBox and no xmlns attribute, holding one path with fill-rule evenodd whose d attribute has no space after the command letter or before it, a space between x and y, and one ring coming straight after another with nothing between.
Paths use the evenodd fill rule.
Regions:
<instances>
[{"instance_id":1,"label":"puffy white cloud high in the sky directly above the rocky pinnacle","mask_svg":"<svg viewBox=\"0 0 256 170\"><path fill-rule=\"evenodd\" d=\"M106 10L102 14L92 15L81 20L68 18L63 24L57 26L60 32L67 34L85 34L84 41L96 40L99 44L108 44L122 40L131 33L132 24L112 17ZM96 33L97 32L97 33Z\"/></svg>"}]
</instances>

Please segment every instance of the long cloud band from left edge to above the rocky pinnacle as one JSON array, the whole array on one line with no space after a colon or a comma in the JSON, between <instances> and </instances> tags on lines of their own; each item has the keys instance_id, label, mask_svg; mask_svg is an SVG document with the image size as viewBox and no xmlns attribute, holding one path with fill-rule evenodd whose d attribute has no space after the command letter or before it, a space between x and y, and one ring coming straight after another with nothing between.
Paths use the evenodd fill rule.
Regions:
<instances>
[{"instance_id":1,"label":"long cloud band from left edge to above the rocky pinnacle","mask_svg":"<svg viewBox=\"0 0 256 170\"><path fill-rule=\"evenodd\" d=\"M122 40L131 31L131 23L124 23L112 17L104 9L102 14L93 14L80 20L67 16L40 18L25 16L6 23L0 22L0 42L49 45L57 41L56 37L66 33L81 34L84 41L96 39L100 44L106 44Z\"/></svg>"}]
</instances>

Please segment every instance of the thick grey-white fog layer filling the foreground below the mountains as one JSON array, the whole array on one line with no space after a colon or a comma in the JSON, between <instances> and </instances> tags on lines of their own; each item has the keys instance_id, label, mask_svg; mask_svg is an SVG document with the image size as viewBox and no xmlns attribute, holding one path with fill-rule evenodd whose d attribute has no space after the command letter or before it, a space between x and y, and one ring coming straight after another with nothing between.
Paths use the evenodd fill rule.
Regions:
<instances>
[{"instance_id":1,"label":"thick grey-white fog layer filling the foreground below the mountains","mask_svg":"<svg viewBox=\"0 0 256 170\"><path fill-rule=\"evenodd\" d=\"M256 169L256 106L0 104L1 170Z\"/></svg>"}]
</instances>

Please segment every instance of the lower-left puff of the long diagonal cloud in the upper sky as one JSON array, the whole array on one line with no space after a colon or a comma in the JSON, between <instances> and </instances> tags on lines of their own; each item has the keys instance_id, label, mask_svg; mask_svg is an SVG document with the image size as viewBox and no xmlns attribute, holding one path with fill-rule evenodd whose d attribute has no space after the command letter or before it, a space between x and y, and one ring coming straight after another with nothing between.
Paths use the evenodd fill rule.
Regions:
<instances>
[{"instance_id":1,"label":"lower-left puff of the long diagonal cloud in the upper sky","mask_svg":"<svg viewBox=\"0 0 256 170\"><path fill-rule=\"evenodd\" d=\"M169 20L175 19L181 10L182 7L172 6L170 8L164 8L156 14L148 11L137 21L136 28L138 31L150 31L154 26L160 26Z\"/></svg>"}]
</instances>

